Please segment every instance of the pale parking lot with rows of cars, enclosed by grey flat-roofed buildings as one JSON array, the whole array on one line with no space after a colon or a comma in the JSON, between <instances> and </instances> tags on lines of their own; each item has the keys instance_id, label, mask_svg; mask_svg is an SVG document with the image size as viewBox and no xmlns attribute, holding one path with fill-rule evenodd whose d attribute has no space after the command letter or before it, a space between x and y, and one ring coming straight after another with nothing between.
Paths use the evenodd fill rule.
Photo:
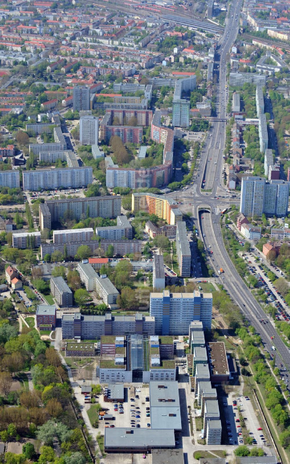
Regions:
<instances>
[{"instance_id":1,"label":"pale parking lot with rows of cars, enclosed by grey flat-roofed buildings","mask_svg":"<svg viewBox=\"0 0 290 464\"><path fill-rule=\"evenodd\" d=\"M148 399L146 401L146 398ZM101 420L99 429L102 431L105 427L114 425L115 427L133 427L147 428L151 424L150 403L149 403L149 387L128 387L124 391L124 402L107 403L103 401L103 396L100 396L100 405L108 408L107 413L112 414L114 420Z\"/></svg>"}]
</instances>

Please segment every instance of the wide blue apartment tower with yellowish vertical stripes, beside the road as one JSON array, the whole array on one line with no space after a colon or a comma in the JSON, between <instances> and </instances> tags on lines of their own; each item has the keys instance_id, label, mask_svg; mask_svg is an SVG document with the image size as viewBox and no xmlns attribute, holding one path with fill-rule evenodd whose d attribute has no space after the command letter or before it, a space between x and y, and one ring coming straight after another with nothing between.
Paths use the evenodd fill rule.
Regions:
<instances>
[{"instance_id":1,"label":"wide blue apartment tower with yellowish vertical stripes, beside the road","mask_svg":"<svg viewBox=\"0 0 290 464\"><path fill-rule=\"evenodd\" d=\"M211 293L150 293L150 316L155 317L156 334L185 335L192 321L201 321L204 329L212 324Z\"/></svg>"}]
</instances>

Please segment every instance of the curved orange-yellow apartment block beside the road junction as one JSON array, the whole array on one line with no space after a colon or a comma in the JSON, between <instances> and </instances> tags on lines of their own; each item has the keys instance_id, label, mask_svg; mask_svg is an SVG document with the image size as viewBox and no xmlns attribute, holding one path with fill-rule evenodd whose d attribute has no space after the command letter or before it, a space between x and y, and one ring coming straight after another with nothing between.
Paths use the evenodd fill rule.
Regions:
<instances>
[{"instance_id":1,"label":"curved orange-yellow apartment block beside the road junction","mask_svg":"<svg viewBox=\"0 0 290 464\"><path fill-rule=\"evenodd\" d=\"M174 225L182 221L182 213L171 198L155 193L132 193L132 213L146 211L148 214L156 214L168 224Z\"/></svg>"}]
</instances>

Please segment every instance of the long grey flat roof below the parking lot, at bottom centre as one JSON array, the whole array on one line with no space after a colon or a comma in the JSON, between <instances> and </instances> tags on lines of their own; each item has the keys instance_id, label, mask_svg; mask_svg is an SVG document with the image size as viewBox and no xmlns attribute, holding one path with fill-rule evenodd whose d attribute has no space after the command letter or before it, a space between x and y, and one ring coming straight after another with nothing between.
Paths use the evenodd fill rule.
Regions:
<instances>
[{"instance_id":1,"label":"long grey flat roof below the parking lot, at bottom centre","mask_svg":"<svg viewBox=\"0 0 290 464\"><path fill-rule=\"evenodd\" d=\"M151 419L151 418L150 418ZM119 448L174 448L174 430L106 428L104 446L107 451Z\"/></svg>"}]
</instances>

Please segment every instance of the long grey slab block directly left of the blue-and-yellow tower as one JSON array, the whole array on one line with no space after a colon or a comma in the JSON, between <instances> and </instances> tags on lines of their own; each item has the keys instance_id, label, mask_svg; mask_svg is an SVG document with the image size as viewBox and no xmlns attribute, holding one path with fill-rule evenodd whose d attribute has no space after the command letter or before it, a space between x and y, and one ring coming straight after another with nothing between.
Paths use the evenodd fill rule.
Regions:
<instances>
[{"instance_id":1,"label":"long grey slab block directly left of the blue-and-yellow tower","mask_svg":"<svg viewBox=\"0 0 290 464\"><path fill-rule=\"evenodd\" d=\"M80 313L62 316L62 337L82 340L100 340L102 335L155 334L154 317L143 316L84 316Z\"/></svg>"}]
</instances>

